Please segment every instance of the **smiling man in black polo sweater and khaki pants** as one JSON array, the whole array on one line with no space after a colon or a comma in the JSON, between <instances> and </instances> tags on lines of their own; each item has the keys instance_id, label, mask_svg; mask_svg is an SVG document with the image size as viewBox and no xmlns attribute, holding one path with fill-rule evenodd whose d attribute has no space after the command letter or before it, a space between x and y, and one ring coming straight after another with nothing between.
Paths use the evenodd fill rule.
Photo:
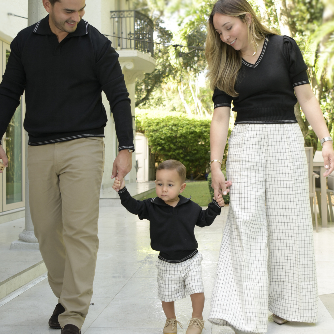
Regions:
<instances>
[{"instance_id":1,"label":"smiling man in black polo sweater and khaki pants","mask_svg":"<svg viewBox=\"0 0 334 334\"><path fill-rule=\"evenodd\" d=\"M50 327L80 333L92 298L104 168L106 93L119 140L112 178L131 170L130 99L111 42L82 19L85 0L42 0L49 13L11 43L0 85L0 138L25 90L29 203L58 297ZM0 143L1 144L1 143ZM0 146L0 158L8 159Z\"/></svg>"}]
</instances>

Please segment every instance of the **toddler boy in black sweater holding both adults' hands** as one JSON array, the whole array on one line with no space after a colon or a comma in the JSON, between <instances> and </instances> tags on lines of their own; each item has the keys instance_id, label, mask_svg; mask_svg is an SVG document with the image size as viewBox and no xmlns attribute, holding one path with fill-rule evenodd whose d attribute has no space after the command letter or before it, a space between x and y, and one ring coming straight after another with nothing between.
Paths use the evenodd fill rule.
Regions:
<instances>
[{"instance_id":1,"label":"toddler boy in black sweater holding both adults' hands","mask_svg":"<svg viewBox=\"0 0 334 334\"><path fill-rule=\"evenodd\" d=\"M204 227L212 224L224 205L222 195L213 198L203 210L198 204L185 198L186 168L177 160L162 162L156 172L155 188L158 197L138 201L131 197L124 180L115 178L113 188L118 191L122 205L140 219L150 221L152 249L159 251L158 298L166 315L164 334L177 333L174 301L190 295L192 317L186 334L200 334L204 328L204 287L201 275L202 255L197 250L194 235L195 225Z\"/></svg>"}]
</instances>

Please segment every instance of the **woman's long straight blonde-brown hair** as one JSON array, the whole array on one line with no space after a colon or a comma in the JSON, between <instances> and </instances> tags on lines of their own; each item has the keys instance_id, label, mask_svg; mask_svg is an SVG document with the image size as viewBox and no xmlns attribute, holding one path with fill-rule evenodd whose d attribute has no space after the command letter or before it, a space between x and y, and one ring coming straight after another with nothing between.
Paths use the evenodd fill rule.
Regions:
<instances>
[{"instance_id":1,"label":"woman's long straight blonde-brown hair","mask_svg":"<svg viewBox=\"0 0 334 334\"><path fill-rule=\"evenodd\" d=\"M216 13L238 17L243 22L245 22L246 14L250 14L252 22L248 29L248 43L255 49L267 34L276 34L276 32L261 24L246 0L218 0L214 4L207 23L205 57L208 63L208 72L206 77L209 79L212 90L217 87L226 94L236 97L238 93L234 86L242 64L241 53L221 41L213 26L213 15Z\"/></svg>"}]
</instances>

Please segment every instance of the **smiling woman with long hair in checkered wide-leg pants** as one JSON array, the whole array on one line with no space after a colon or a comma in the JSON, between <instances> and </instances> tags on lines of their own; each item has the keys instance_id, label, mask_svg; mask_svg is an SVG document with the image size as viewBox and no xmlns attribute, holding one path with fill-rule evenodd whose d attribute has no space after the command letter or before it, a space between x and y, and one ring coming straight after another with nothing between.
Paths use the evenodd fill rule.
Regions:
<instances>
[{"instance_id":1,"label":"smiling woman with long hair in checkered wide-leg pants","mask_svg":"<svg viewBox=\"0 0 334 334\"><path fill-rule=\"evenodd\" d=\"M269 309L278 323L316 322L313 226L297 100L322 139L324 176L334 169L334 152L307 66L296 42L265 28L245 0L213 6L205 54L214 89L216 198L226 192L220 164L232 100L237 112L226 163L230 206L209 321L235 333L265 333Z\"/></svg>"}]
</instances>

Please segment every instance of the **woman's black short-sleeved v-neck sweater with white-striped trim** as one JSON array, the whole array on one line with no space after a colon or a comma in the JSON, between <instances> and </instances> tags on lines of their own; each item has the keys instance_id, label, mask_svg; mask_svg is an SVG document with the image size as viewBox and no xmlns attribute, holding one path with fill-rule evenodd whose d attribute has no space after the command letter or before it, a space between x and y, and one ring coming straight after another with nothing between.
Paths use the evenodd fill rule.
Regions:
<instances>
[{"instance_id":1,"label":"woman's black short-sleeved v-neck sweater with white-striped trim","mask_svg":"<svg viewBox=\"0 0 334 334\"><path fill-rule=\"evenodd\" d=\"M242 59L235 90L237 97L215 89L214 108L230 107L238 123L296 123L294 87L309 83L307 65L295 40L268 35L255 64Z\"/></svg>"}]
</instances>

